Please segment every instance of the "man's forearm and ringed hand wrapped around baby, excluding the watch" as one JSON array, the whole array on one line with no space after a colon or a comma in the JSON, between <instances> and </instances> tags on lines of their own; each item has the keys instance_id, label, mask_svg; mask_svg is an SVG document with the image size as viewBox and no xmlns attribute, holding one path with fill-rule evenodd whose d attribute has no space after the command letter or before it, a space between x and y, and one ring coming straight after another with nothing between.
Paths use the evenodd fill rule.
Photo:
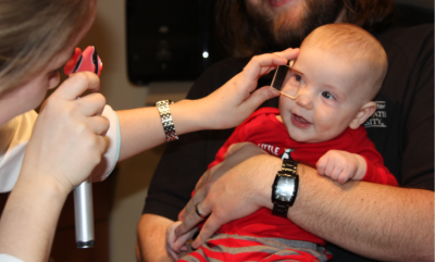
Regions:
<instances>
[{"instance_id":1,"label":"man's forearm and ringed hand wrapped around baby, excluding the watch","mask_svg":"<svg viewBox=\"0 0 435 262\"><path fill-rule=\"evenodd\" d=\"M272 183L281 160L248 145L206 175L220 176L198 188L185 209L179 235L200 221L194 203L210 213L192 246L198 247L222 224L272 209ZM364 182L340 185L299 164L299 191L288 217L356 253L384 261L431 261L435 258L435 192ZM231 183L229 183L231 182ZM237 194L234 194L237 192Z\"/></svg>"}]
</instances>

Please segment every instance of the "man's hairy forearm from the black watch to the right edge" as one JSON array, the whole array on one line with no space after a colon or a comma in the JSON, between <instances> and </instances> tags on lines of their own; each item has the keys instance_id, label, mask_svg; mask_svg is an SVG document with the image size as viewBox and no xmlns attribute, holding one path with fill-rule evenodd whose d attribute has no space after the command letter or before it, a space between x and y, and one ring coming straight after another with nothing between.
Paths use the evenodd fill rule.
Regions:
<instances>
[{"instance_id":1,"label":"man's hairy forearm from the black watch to the right edge","mask_svg":"<svg viewBox=\"0 0 435 262\"><path fill-rule=\"evenodd\" d=\"M433 261L435 192L363 182L339 185L300 167L299 192L288 212L294 223L368 258Z\"/></svg>"}]
</instances>

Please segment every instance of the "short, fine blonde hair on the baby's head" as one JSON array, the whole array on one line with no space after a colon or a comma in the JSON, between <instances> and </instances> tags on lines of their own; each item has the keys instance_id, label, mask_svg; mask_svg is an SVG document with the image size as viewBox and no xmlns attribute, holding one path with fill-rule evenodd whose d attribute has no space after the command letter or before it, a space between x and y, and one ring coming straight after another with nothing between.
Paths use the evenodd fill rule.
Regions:
<instances>
[{"instance_id":1,"label":"short, fine blonde hair on the baby's head","mask_svg":"<svg viewBox=\"0 0 435 262\"><path fill-rule=\"evenodd\" d=\"M371 87L365 90L369 99L381 89L388 68L387 54L381 42L361 27L347 23L323 25L303 40L303 46L326 50L361 68L361 82Z\"/></svg>"}]
</instances>

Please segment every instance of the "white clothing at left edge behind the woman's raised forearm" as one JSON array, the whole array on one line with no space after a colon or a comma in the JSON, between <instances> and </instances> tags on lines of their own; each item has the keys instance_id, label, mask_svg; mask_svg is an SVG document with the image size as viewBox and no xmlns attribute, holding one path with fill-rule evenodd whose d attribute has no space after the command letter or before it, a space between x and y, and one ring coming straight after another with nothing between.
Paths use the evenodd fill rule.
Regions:
<instances>
[{"instance_id":1,"label":"white clothing at left edge behind the woman's raised forearm","mask_svg":"<svg viewBox=\"0 0 435 262\"><path fill-rule=\"evenodd\" d=\"M0 192L11 191L18 178L37 116L32 110L0 127Z\"/></svg>"}]
</instances>

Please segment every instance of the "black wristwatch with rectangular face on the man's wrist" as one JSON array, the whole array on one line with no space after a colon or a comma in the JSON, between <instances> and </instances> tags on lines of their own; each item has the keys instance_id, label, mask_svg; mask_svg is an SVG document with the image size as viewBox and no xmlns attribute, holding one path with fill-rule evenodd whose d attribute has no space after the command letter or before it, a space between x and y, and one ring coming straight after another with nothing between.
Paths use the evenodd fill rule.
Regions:
<instances>
[{"instance_id":1,"label":"black wristwatch with rectangular face on the man's wrist","mask_svg":"<svg viewBox=\"0 0 435 262\"><path fill-rule=\"evenodd\" d=\"M299 176L296 174L297 170L297 161L283 160L283 166L272 185L272 214L287 217L288 208L295 202L298 192Z\"/></svg>"}]
</instances>

